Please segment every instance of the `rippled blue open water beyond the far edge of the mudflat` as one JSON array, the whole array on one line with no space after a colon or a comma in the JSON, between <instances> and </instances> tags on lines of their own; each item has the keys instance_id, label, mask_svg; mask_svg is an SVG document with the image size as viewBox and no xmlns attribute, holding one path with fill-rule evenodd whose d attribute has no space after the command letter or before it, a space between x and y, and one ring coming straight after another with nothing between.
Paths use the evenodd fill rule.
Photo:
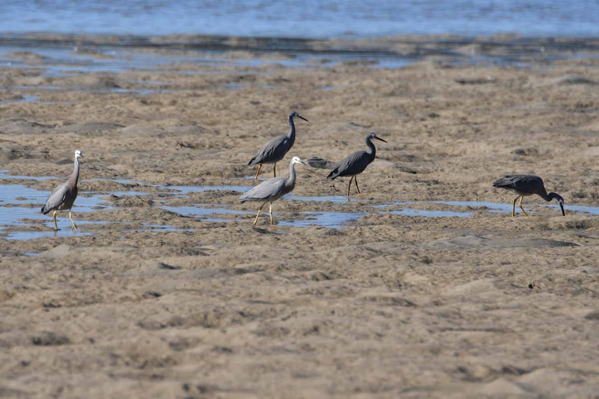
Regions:
<instances>
[{"instance_id":1,"label":"rippled blue open water beyond the far edge of the mudflat","mask_svg":"<svg viewBox=\"0 0 599 399\"><path fill-rule=\"evenodd\" d=\"M449 33L599 36L597 0L0 0L0 36L28 32L269 38Z\"/></svg>"}]
</instances>

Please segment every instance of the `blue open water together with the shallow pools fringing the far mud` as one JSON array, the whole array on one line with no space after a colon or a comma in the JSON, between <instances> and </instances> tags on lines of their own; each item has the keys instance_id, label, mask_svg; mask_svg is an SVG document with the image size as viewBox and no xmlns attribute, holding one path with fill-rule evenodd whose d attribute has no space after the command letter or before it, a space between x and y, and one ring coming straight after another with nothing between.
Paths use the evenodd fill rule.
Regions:
<instances>
[{"instance_id":1,"label":"blue open water together with the shallow pools fringing the far mud","mask_svg":"<svg viewBox=\"0 0 599 399\"><path fill-rule=\"evenodd\" d=\"M41 69L40 77L122 73L164 68L172 63L214 68L223 65L255 68L277 63L308 69L314 67L316 60L318 68L344 61L360 62L371 68L401 68L429 57L456 63L525 67L531 57L537 61L597 57L599 51L594 40L599 36L599 2L589 0L474 3L334 0L325 4L316 0L246 0L239 4L149 0L144 1L143 7L138 2L111 0L49 0L43 6L37 2L0 0L0 10L3 17L0 66ZM512 36L485 39L503 33ZM426 37L414 46L413 35ZM390 45L384 42L365 45L363 41L390 36L406 39ZM578 39L570 42L553 39L564 37ZM329 41L338 38L352 42ZM473 41L480 48L495 51L464 54L463 48ZM176 51L167 54L162 50ZM258 57L228 56L232 51ZM39 57L14 56L23 52ZM168 90L168 83L164 82L136 84L141 88L69 89L140 95ZM243 86L223 84L222 89L240 87ZM34 102L35 96L24 93L21 100Z\"/></svg>"}]
</instances>

